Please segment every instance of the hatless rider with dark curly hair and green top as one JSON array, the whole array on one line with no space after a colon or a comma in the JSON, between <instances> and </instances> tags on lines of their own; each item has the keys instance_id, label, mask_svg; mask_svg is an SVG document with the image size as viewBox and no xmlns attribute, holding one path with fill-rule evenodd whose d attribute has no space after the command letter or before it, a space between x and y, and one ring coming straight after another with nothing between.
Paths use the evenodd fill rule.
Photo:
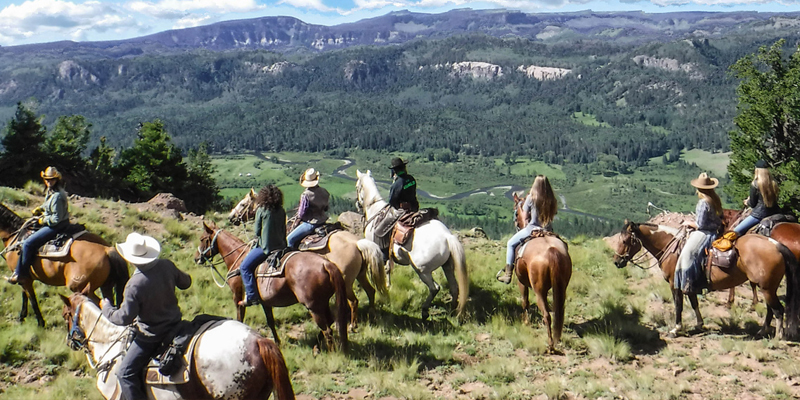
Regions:
<instances>
[{"instance_id":1,"label":"hatless rider with dark curly hair and green top","mask_svg":"<svg viewBox=\"0 0 800 400\"><path fill-rule=\"evenodd\" d=\"M327 192L326 192L327 193ZM275 185L267 185L256 196L256 219L253 223L256 245L239 265L244 282L245 297L237 303L248 307L261 302L254 275L256 267L274 250L286 248L286 211L283 209L283 192Z\"/></svg>"}]
</instances>

